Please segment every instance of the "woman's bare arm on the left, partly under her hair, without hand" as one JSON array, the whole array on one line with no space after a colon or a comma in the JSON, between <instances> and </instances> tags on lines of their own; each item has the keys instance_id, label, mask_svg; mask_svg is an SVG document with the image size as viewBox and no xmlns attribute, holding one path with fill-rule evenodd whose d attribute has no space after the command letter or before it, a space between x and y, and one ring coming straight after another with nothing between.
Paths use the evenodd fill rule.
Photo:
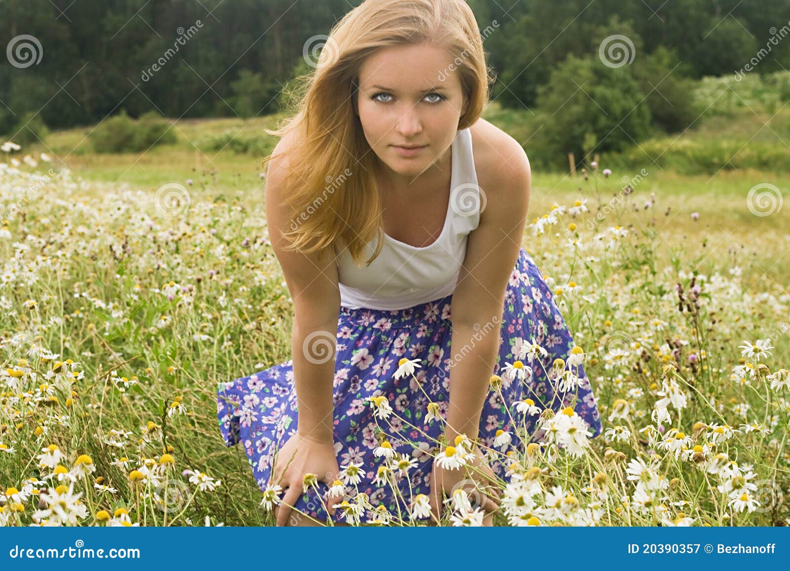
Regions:
<instances>
[{"instance_id":1,"label":"woman's bare arm on the left, partly under her hair, without hand","mask_svg":"<svg viewBox=\"0 0 790 571\"><path fill-rule=\"evenodd\" d=\"M288 136L275 154L288 145ZM333 379L340 291L337 265L331 250L325 254L302 254L284 250L283 232L292 224L282 197L288 192L284 175L285 157L269 162L266 183L266 213L269 237L282 266L288 291L294 300L291 335L296 397L299 404L298 432L313 441L333 442Z\"/></svg>"}]
</instances>

